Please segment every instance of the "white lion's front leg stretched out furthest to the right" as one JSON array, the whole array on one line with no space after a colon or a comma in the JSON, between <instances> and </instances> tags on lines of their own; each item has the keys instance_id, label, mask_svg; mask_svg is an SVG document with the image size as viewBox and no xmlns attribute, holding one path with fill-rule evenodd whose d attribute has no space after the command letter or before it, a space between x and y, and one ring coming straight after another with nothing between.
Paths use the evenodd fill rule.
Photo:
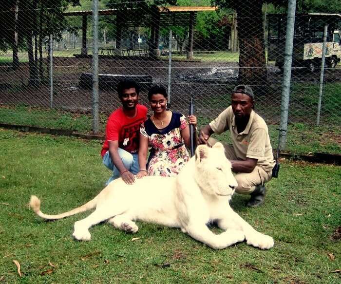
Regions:
<instances>
[{"instance_id":1,"label":"white lion's front leg stretched out furthest to the right","mask_svg":"<svg viewBox=\"0 0 341 284\"><path fill-rule=\"evenodd\" d=\"M274 246L273 238L256 231L242 217L240 217L232 209L224 218L218 221L218 226L224 230L242 230L245 234L246 244L259 247L261 249L269 249Z\"/></svg>"}]
</instances>

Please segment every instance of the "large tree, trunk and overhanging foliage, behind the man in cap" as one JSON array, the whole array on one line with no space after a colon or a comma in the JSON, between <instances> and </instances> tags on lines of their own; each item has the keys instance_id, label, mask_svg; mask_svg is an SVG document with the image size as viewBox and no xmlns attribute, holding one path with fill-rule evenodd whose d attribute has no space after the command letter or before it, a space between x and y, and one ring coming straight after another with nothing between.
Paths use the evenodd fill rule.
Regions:
<instances>
[{"instance_id":1,"label":"large tree, trunk and overhanging foliage, behind the man in cap","mask_svg":"<svg viewBox=\"0 0 341 284\"><path fill-rule=\"evenodd\" d=\"M240 43L240 83L260 86L266 83L265 45L263 39L262 5L272 3L273 7L284 7L287 0L213 0L222 8L232 8L238 15L238 36ZM297 0L297 12L340 13L340 0Z\"/></svg>"}]
</instances>

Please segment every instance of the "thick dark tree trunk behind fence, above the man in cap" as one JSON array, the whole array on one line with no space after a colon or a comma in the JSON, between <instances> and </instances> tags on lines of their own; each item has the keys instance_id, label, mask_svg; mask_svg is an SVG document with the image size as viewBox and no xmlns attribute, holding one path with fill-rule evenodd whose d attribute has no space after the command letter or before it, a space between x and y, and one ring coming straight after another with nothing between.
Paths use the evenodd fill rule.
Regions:
<instances>
[{"instance_id":1,"label":"thick dark tree trunk behind fence, above the man in cap","mask_svg":"<svg viewBox=\"0 0 341 284\"><path fill-rule=\"evenodd\" d=\"M262 1L263 2L263 1ZM237 6L239 36L239 74L241 84L262 90L266 84L262 2L243 0Z\"/></svg>"}]
</instances>

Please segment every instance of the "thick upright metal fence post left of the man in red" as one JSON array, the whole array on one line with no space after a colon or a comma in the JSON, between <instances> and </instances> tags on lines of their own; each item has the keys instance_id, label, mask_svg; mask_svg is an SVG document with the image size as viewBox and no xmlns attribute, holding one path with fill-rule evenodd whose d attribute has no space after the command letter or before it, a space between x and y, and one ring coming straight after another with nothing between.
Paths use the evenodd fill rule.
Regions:
<instances>
[{"instance_id":1,"label":"thick upright metal fence post left of the man in red","mask_svg":"<svg viewBox=\"0 0 341 284\"><path fill-rule=\"evenodd\" d=\"M98 0L93 0L93 133L98 133Z\"/></svg>"}]
</instances>

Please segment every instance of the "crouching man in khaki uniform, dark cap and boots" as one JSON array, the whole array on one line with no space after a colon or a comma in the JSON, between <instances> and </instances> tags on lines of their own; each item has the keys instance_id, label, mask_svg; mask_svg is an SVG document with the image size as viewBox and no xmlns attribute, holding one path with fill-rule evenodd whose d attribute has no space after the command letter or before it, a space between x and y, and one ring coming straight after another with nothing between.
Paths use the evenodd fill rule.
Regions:
<instances>
[{"instance_id":1,"label":"crouching man in khaki uniform, dark cap and boots","mask_svg":"<svg viewBox=\"0 0 341 284\"><path fill-rule=\"evenodd\" d=\"M198 144L212 146L217 140L209 137L211 134L229 130L232 146L224 145L225 155L236 173L236 192L251 195L249 207L264 203L264 184L271 179L275 165L266 123L253 108L252 89L246 85L235 87L231 106L206 125L198 136Z\"/></svg>"}]
</instances>

